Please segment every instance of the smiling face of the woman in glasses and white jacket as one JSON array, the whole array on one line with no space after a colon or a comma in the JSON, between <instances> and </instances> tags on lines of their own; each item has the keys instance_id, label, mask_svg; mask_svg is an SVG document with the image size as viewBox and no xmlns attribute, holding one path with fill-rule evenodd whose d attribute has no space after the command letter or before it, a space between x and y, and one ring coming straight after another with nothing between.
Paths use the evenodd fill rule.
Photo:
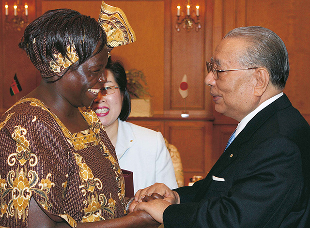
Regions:
<instances>
[{"instance_id":1,"label":"smiling face of the woman in glasses and white jacket","mask_svg":"<svg viewBox=\"0 0 310 228\"><path fill-rule=\"evenodd\" d=\"M110 70L105 70L107 82L103 86L115 86L118 84L115 82L113 73ZM123 93L119 89L115 89L115 92L109 95L103 96L100 92L94 99L92 108L95 110L102 124L107 127L117 121L123 105Z\"/></svg>"}]
</instances>

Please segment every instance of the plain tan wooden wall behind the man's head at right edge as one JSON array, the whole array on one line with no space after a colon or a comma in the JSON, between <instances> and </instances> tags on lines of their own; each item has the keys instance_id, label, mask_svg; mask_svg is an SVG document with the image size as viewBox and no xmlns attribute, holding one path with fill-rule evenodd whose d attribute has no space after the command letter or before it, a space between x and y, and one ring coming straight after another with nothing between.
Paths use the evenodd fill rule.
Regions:
<instances>
[{"instance_id":1,"label":"plain tan wooden wall behind the man's head at right edge","mask_svg":"<svg viewBox=\"0 0 310 228\"><path fill-rule=\"evenodd\" d=\"M275 10L276 9L276 10ZM268 0L257 7L247 1L248 25L260 25L275 31L289 53L290 75L284 92L304 116L310 114L310 12L309 0Z\"/></svg>"}]
</instances>

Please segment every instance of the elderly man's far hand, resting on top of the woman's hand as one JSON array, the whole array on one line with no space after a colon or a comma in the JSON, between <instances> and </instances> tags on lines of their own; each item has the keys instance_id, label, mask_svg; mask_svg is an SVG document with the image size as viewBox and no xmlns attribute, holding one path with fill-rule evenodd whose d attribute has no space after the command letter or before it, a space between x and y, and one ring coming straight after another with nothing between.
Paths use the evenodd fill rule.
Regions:
<instances>
[{"instance_id":1,"label":"elderly man's far hand, resting on top of the woman's hand","mask_svg":"<svg viewBox=\"0 0 310 228\"><path fill-rule=\"evenodd\" d=\"M157 193L164 197L164 200L169 202L170 204L179 204L180 197L179 194L175 191L172 191L169 187L167 187L163 183L155 183L150 187L140 189L135 195L136 202L142 202L142 198L145 196L151 196L153 193Z\"/></svg>"}]
</instances>

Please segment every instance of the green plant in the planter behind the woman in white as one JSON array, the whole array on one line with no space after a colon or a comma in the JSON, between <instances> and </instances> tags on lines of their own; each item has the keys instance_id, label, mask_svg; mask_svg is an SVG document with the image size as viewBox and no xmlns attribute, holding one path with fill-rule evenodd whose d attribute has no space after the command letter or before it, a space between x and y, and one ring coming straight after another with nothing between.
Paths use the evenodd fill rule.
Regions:
<instances>
[{"instance_id":1,"label":"green plant in the planter behind the woman in white","mask_svg":"<svg viewBox=\"0 0 310 228\"><path fill-rule=\"evenodd\" d=\"M148 92L145 76L142 71L131 69L126 71L127 89L130 98L146 98L151 96Z\"/></svg>"}]
</instances>

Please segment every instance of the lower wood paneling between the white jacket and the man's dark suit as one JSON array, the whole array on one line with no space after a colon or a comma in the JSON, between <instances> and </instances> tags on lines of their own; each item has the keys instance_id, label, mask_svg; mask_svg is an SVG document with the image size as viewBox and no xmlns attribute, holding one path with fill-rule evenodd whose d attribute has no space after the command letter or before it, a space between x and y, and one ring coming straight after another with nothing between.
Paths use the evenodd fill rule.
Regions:
<instances>
[{"instance_id":1,"label":"lower wood paneling between the white jacket and the man's dark suit","mask_svg":"<svg viewBox=\"0 0 310 228\"><path fill-rule=\"evenodd\" d=\"M180 152L185 184L193 175L205 176L212 163L212 121L180 117L129 118L129 122L161 129L163 136Z\"/></svg>"}]
</instances>

